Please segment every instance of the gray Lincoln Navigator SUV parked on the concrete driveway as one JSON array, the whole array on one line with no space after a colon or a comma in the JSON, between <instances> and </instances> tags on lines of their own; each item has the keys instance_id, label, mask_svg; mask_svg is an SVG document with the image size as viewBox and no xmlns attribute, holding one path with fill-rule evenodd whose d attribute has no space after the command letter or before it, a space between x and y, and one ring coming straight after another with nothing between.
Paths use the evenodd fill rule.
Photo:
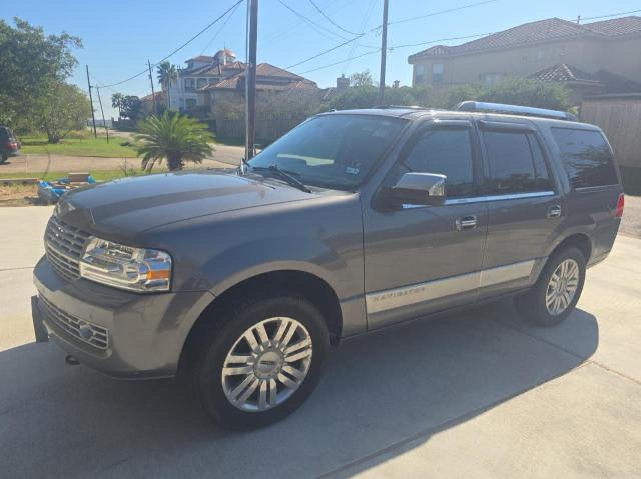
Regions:
<instances>
[{"instance_id":1,"label":"gray Lincoln Navigator SUV parked on the concrete driveway","mask_svg":"<svg viewBox=\"0 0 641 479\"><path fill-rule=\"evenodd\" d=\"M36 318L110 376L187 378L240 429L299 407L344 337L506 297L556 325L619 229L612 149L562 113L485 108L324 113L238 170L73 191Z\"/></svg>"}]
</instances>

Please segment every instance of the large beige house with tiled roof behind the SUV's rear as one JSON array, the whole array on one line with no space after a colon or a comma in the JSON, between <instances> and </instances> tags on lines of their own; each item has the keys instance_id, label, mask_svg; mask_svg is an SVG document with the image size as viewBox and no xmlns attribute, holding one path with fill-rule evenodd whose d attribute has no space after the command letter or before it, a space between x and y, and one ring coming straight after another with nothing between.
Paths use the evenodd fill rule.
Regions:
<instances>
[{"instance_id":1,"label":"large beige house with tiled roof behind the SUV's rear","mask_svg":"<svg viewBox=\"0 0 641 479\"><path fill-rule=\"evenodd\" d=\"M506 77L531 76L572 82L570 88L583 93L615 93L613 85L629 90L641 82L639 51L641 17L586 24L553 18L462 45L435 45L410 55L408 63L412 85L491 85Z\"/></svg>"}]
</instances>

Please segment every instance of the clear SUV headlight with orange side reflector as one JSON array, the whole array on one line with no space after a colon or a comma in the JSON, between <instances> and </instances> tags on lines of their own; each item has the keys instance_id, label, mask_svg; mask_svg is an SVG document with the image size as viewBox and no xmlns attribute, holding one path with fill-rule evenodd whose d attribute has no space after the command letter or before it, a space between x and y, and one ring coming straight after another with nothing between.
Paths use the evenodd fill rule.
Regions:
<instances>
[{"instance_id":1,"label":"clear SUV headlight with orange side reflector","mask_svg":"<svg viewBox=\"0 0 641 479\"><path fill-rule=\"evenodd\" d=\"M139 293L169 291L171 256L164 251L132 248L92 236L80 261L80 276Z\"/></svg>"}]
</instances>

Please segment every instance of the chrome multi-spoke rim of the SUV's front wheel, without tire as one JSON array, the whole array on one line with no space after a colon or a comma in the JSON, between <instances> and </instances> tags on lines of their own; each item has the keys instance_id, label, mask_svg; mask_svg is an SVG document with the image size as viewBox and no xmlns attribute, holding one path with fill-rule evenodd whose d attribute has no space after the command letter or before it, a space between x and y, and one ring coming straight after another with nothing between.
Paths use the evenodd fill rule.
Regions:
<instances>
[{"instance_id":1,"label":"chrome multi-spoke rim of the SUV's front wheel, without tire","mask_svg":"<svg viewBox=\"0 0 641 479\"><path fill-rule=\"evenodd\" d=\"M222 368L230 403L262 412L285 402L303 384L312 365L312 338L299 321L269 318L247 329Z\"/></svg>"}]
</instances>

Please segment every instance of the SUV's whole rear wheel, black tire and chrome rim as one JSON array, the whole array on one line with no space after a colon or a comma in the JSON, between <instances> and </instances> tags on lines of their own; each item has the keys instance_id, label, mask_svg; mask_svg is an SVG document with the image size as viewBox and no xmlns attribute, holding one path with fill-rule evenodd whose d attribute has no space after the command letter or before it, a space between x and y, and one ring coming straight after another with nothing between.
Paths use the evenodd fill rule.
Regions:
<instances>
[{"instance_id":1,"label":"SUV's whole rear wheel, black tire and chrome rim","mask_svg":"<svg viewBox=\"0 0 641 479\"><path fill-rule=\"evenodd\" d=\"M515 307L535 325L557 325L574 310L584 281L583 253L575 247L566 248L549 257L534 288L514 298Z\"/></svg>"}]
</instances>

